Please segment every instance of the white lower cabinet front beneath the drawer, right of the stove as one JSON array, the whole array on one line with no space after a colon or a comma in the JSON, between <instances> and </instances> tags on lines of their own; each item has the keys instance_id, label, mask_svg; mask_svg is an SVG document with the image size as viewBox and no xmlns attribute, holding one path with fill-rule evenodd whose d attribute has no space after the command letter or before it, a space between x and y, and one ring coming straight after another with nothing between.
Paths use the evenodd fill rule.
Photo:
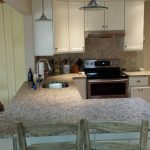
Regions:
<instances>
[{"instance_id":1,"label":"white lower cabinet front beneath the drawer, right of the stove","mask_svg":"<svg viewBox=\"0 0 150 150\"><path fill-rule=\"evenodd\" d=\"M150 87L131 87L131 97L139 97L150 102Z\"/></svg>"}]
</instances>

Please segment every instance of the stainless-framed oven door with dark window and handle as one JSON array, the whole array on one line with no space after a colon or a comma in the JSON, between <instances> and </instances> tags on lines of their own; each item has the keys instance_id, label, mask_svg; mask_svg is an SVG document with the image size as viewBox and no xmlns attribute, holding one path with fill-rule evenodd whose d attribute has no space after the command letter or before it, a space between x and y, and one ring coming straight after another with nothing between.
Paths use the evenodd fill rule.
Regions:
<instances>
[{"instance_id":1,"label":"stainless-framed oven door with dark window and handle","mask_svg":"<svg viewBox=\"0 0 150 150\"><path fill-rule=\"evenodd\" d=\"M128 79L88 79L88 98L128 97Z\"/></svg>"}]
</instances>

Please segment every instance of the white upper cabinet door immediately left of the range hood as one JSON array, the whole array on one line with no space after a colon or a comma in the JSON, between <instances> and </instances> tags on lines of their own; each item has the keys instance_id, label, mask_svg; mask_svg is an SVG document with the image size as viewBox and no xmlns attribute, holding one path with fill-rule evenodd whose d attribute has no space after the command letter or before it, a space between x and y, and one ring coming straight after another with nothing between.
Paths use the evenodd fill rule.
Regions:
<instances>
[{"instance_id":1,"label":"white upper cabinet door immediately left of the range hood","mask_svg":"<svg viewBox=\"0 0 150 150\"><path fill-rule=\"evenodd\" d=\"M83 5L83 2L69 2L70 52L84 51L84 11L79 9Z\"/></svg>"}]
</instances>

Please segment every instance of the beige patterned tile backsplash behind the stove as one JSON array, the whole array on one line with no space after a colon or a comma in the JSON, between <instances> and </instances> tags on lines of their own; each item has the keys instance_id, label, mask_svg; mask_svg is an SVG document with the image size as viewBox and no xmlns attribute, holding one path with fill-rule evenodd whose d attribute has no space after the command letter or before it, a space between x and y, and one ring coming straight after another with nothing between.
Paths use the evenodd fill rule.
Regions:
<instances>
[{"instance_id":1,"label":"beige patterned tile backsplash behind the stove","mask_svg":"<svg viewBox=\"0 0 150 150\"><path fill-rule=\"evenodd\" d=\"M55 54L46 57L49 61L52 59L61 62L64 58L70 58L75 63L78 58L81 59L120 59L121 68L127 70L137 70L143 67L143 51L123 51L123 38L89 38L85 40L84 53L65 53ZM36 57L38 59L39 57Z\"/></svg>"}]
</instances>

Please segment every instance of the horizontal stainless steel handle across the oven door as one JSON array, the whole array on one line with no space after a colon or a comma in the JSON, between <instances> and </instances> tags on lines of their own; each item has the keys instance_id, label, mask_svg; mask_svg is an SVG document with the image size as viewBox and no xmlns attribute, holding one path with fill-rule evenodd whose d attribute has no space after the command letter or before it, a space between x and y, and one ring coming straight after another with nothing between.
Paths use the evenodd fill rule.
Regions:
<instances>
[{"instance_id":1,"label":"horizontal stainless steel handle across the oven door","mask_svg":"<svg viewBox=\"0 0 150 150\"><path fill-rule=\"evenodd\" d=\"M89 83L128 82L128 79L88 79Z\"/></svg>"}]
</instances>

